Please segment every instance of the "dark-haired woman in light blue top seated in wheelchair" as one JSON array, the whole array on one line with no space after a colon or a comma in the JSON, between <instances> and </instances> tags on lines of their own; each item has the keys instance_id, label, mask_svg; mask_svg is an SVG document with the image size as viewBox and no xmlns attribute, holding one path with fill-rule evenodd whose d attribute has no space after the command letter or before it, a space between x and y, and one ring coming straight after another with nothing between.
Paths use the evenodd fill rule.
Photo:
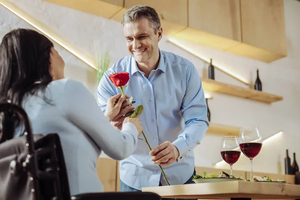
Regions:
<instances>
[{"instance_id":1,"label":"dark-haired woman in light blue top seated in wheelchair","mask_svg":"<svg viewBox=\"0 0 300 200\"><path fill-rule=\"evenodd\" d=\"M64 78L64 61L52 42L34 30L16 29L0 44L0 102L21 105L34 133L58 133L65 158L71 195L102 191L95 161L103 150L124 159L135 149L142 127L126 117L119 131L109 120L119 114L124 96L108 100L105 116L92 94L79 82ZM19 119L4 113L0 142L22 134ZM12 133L14 134L12 135Z\"/></svg>"}]
</instances>

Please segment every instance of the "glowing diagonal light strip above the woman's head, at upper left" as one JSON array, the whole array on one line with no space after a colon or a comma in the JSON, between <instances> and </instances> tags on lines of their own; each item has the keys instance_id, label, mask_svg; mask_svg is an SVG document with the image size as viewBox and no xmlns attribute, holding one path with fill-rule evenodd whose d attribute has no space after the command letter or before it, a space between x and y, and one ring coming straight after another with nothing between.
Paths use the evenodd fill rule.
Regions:
<instances>
[{"instance_id":1,"label":"glowing diagonal light strip above the woman's head, at upper left","mask_svg":"<svg viewBox=\"0 0 300 200\"><path fill-rule=\"evenodd\" d=\"M9 11L29 23L31 26L36 28L38 31L61 45L63 48L68 50L70 53L81 59L83 62L91 66L92 68L97 70L97 67L94 64L94 61L92 58L89 58L87 55L83 55L82 52L79 52L78 50L75 50L74 47L71 47L71 44L69 44L67 41L62 39L59 35L57 35L54 31L47 28L44 24L34 19L32 16L30 16L28 13L17 7L15 4L7 1L7 0L0 0L0 4L7 8Z\"/></svg>"}]
</instances>

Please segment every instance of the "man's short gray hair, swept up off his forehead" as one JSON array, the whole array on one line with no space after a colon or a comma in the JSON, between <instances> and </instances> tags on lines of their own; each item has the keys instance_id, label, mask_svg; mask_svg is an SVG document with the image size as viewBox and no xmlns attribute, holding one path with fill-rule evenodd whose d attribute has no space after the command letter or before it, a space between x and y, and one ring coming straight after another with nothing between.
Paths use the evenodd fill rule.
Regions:
<instances>
[{"instance_id":1,"label":"man's short gray hair, swept up off his forehead","mask_svg":"<svg viewBox=\"0 0 300 200\"><path fill-rule=\"evenodd\" d=\"M147 5L134 5L128 9L122 17L122 26L124 26L126 22L136 22L143 18L149 20L151 27L154 29L154 33L156 34L160 27L159 16L154 8Z\"/></svg>"}]
</instances>

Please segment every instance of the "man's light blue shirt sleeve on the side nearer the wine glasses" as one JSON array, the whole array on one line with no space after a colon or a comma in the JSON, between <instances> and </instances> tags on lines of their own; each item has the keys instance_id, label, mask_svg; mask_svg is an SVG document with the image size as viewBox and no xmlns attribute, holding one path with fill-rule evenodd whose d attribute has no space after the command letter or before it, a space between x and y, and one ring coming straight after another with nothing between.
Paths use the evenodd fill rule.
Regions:
<instances>
[{"instance_id":1,"label":"man's light blue shirt sleeve on the side nearer the wine glasses","mask_svg":"<svg viewBox=\"0 0 300 200\"><path fill-rule=\"evenodd\" d=\"M201 79L192 64L186 72L186 90L181 113L185 123L184 130L172 143L179 151L179 159L200 144L209 125Z\"/></svg>"}]
</instances>

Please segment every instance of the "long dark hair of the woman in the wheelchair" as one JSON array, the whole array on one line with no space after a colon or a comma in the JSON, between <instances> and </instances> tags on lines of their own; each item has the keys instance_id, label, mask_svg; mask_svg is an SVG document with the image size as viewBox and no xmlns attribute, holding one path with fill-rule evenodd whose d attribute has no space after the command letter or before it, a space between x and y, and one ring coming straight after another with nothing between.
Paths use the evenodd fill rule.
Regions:
<instances>
[{"instance_id":1,"label":"long dark hair of the woman in the wheelchair","mask_svg":"<svg viewBox=\"0 0 300 200\"><path fill-rule=\"evenodd\" d=\"M0 44L0 102L22 106L24 97L44 90L52 81L50 50L53 43L30 29L14 29ZM20 119L14 113L0 114L0 143L13 137ZM2 134L2 135L1 135Z\"/></svg>"}]
</instances>

